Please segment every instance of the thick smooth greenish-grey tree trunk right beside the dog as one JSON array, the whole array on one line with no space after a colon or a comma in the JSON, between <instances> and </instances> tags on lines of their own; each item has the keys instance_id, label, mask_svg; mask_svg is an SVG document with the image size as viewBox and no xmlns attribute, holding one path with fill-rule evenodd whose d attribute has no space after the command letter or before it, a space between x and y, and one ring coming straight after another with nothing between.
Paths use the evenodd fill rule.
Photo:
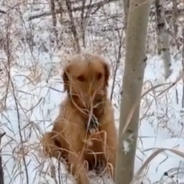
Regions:
<instances>
[{"instance_id":1,"label":"thick smooth greenish-grey tree trunk right beside the dog","mask_svg":"<svg viewBox=\"0 0 184 184\"><path fill-rule=\"evenodd\" d=\"M130 184L134 174L134 159L137 144L139 104L146 66L145 43L150 12L150 1L130 0L123 93L120 107L120 126L116 159L115 183ZM138 103L124 134L129 113Z\"/></svg>"}]
</instances>

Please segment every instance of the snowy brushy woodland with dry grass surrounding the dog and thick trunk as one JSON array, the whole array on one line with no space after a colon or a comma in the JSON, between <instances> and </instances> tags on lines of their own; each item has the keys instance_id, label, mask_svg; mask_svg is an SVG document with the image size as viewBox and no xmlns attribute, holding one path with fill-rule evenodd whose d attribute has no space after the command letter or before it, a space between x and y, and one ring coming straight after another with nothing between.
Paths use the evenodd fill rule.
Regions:
<instances>
[{"instance_id":1,"label":"snowy brushy woodland with dry grass surrounding the dog and thick trunk","mask_svg":"<svg viewBox=\"0 0 184 184\"><path fill-rule=\"evenodd\" d=\"M162 2L169 69L158 45L161 32L153 1L143 93L151 90L141 100L135 172L156 148L184 152L184 1ZM70 54L78 51L101 54L110 63L109 97L118 129L125 55L123 2L0 1L0 130L6 132L1 140L4 183L72 182L63 165L42 155L39 138L52 128L58 105L66 95L62 66ZM169 71L168 75L165 71ZM171 152L160 153L140 178L146 184L184 183L184 160ZM106 179L91 174L92 183L112 183Z\"/></svg>"}]
</instances>

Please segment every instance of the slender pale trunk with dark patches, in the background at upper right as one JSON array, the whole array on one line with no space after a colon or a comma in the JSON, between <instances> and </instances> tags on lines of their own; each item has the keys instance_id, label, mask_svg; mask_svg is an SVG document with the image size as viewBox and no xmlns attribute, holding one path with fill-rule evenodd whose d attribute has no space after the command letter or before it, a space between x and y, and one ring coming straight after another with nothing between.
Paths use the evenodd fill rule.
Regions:
<instances>
[{"instance_id":1,"label":"slender pale trunk with dark patches, in the background at upper right","mask_svg":"<svg viewBox=\"0 0 184 184\"><path fill-rule=\"evenodd\" d=\"M164 1L156 0L155 7L157 15L158 53L162 54L165 79L167 79L171 75L171 55L169 48L169 32L165 24Z\"/></svg>"}]
</instances>

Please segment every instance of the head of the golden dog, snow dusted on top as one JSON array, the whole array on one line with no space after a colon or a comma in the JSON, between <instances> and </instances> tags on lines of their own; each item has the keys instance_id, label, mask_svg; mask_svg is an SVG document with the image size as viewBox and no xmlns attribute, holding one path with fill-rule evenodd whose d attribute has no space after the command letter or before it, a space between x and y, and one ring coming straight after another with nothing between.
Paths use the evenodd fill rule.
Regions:
<instances>
[{"instance_id":1,"label":"head of the golden dog, snow dusted on top","mask_svg":"<svg viewBox=\"0 0 184 184\"><path fill-rule=\"evenodd\" d=\"M97 108L106 99L109 75L100 56L77 54L64 68L64 89L79 107Z\"/></svg>"}]
</instances>

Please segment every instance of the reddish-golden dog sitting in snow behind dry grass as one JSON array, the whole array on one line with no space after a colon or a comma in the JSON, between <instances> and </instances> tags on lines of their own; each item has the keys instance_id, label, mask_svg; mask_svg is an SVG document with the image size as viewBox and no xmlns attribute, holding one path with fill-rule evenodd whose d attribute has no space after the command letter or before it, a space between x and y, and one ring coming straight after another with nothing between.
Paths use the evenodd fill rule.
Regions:
<instances>
[{"instance_id":1,"label":"reddish-golden dog sitting in snow behind dry grass","mask_svg":"<svg viewBox=\"0 0 184 184\"><path fill-rule=\"evenodd\" d=\"M67 98L51 132L42 137L45 153L66 159L78 184L89 184L87 171L110 171L114 179L117 131L107 97L109 65L98 55L74 55L62 75Z\"/></svg>"}]
</instances>

